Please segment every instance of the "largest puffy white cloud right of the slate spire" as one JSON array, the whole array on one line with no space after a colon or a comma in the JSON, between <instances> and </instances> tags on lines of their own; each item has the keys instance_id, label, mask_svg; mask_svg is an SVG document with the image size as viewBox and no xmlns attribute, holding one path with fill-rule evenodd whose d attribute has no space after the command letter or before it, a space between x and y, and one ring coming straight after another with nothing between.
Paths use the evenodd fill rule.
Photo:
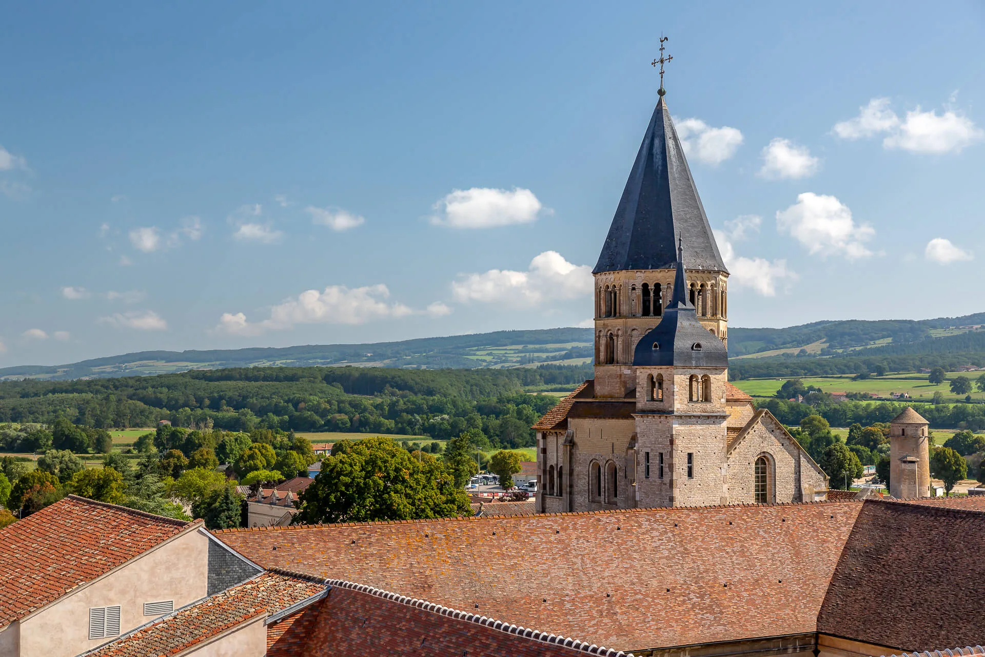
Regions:
<instances>
[{"instance_id":1,"label":"largest puffy white cloud right of the slate spire","mask_svg":"<svg viewBox=\"0 0 985 657\"><path fill-rule=\"evenodd\" d=\"M865 244L876 230L856 225L852 211L833 196L805 192L797 203L776 213L776 227L789 232L812 255L840 255L856 260L873 255Z\"/></svg>"}]
</instances>

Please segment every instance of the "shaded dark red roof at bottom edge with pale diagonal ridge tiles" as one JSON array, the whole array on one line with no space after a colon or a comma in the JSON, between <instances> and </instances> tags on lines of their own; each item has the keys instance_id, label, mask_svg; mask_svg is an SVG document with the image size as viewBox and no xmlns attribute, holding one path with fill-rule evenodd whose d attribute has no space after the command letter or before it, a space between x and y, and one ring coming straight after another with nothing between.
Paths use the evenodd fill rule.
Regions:
<instances>
[{"instance_id":1,"label":"shaded dark red roof at bottom edge with pale diagonal ridge tiles","mask_svg":"<svg viewBox=\"0 0 985 657\"><path fill-rule=\"evenodd\" d=\"M336 655L509 655L510 657L577 657L623 652L555 636L481 615L409 599L372 587L331 580L328 597L319 603L318 619L303 650L289 654L312 657ZM300 631L288 631L285 639ZM282 639L283 640L283 639Z\"/></svg>"}]
</instances>

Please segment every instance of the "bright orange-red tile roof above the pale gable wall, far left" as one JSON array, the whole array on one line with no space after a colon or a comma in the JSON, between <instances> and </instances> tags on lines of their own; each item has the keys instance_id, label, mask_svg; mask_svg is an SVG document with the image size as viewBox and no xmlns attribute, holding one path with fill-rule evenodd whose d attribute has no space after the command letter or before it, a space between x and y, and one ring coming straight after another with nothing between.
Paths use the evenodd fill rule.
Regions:
<instances>
[{"instance_id":1,"label":"bright orange-red tile roof above the pale gable wall, far left","mask_svg":"<svg viewBox=\"0 0 985 657\"><path fill-rule=\"evenodd\" d=\"M201 526L69 495L0 530L0 627Z\"/></svg>"}]
</instances>

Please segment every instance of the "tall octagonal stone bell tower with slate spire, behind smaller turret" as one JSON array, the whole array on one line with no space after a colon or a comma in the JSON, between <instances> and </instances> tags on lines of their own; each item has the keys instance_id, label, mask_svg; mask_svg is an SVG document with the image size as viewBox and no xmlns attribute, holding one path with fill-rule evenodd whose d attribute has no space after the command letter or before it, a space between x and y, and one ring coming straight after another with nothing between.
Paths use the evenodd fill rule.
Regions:
<instances>
[{"instance_id":1,"label":"tall octagonal stone bell tower with slate spire, behind smaller turret","mask_svg":"<svg viewBox=\"0 0 985 657\"><path fill-rule=\"evenodd\" d=\"M629 171L595 265L595 396L622 399L636 386L639 339L664 317L688 245L682 294L706 331L728 339L729 276L690 175L664 90Z\"/></svg>"}]
</instances>

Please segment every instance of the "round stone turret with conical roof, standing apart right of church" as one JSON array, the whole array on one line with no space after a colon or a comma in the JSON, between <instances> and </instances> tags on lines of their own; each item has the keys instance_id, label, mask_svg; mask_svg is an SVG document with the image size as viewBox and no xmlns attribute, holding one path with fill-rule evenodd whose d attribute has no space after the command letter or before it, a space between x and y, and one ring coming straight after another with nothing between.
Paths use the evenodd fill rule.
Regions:
<instances>
[{"instance_id":1,"label":"round stone turret with conical roof, standing apart right of church","mask_svg":"<svg viewBox=\"0 0 985 657\"><path fill-rule=\"evenodd\" d=\"M930 423L910 407L889 422L889 494L930 497Z\"/></svg>"}]
</instances>

